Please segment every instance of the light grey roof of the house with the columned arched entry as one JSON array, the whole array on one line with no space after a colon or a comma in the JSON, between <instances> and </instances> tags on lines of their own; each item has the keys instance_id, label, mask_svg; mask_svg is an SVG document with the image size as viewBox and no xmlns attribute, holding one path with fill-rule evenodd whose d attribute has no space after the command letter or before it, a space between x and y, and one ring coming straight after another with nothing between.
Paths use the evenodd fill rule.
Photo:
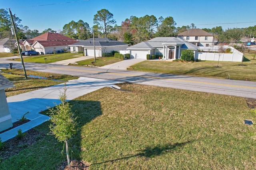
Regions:
<instances>
[{"instance_id":1,"label":"light grey roof of the house with the columned arched entry","mask_svg":"<svg viewBox=\"0 0 256 170\"><path fill-rule=\"evenodd\" d=\"M175 37L156 37L151 40L148 40L146 42L141 42L136 45L132 45L131 47L128 47L127 49L154 49L157 47L162 48L163 45L182 45L183 48L189 48L189 49L198 49L198 46L189 43L184 42L181 38L175 38Z\"/></svg>"}]
</instances>

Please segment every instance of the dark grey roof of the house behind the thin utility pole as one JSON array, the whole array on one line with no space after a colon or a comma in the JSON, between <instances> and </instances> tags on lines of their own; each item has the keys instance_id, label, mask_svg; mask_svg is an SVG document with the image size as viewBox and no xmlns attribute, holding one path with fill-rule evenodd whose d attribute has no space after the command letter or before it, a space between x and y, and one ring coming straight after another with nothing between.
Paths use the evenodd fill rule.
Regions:
<instances>
[{"instance_id":1,"label":"dark grey roof of the house behind the thin utility pole","mask_svg":"<svg viewBox=\"0 0 256 170\"><path fill-rule=\"evenodd\" d=\"M102 47L102 46L114 46L114 45L128 45L128 44L119 42L116 40L112 40L109 38L95 38L95 46ZM74 43L70 46L94 46L93 38L89 38L87 40Z\"/></svg>"}]
</instances>

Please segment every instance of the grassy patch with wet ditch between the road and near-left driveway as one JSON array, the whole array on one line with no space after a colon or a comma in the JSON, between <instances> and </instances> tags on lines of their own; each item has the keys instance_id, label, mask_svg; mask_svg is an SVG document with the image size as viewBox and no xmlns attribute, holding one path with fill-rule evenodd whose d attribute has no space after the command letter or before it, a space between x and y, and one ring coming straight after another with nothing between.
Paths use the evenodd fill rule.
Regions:
<instances>
[{"instance_id":1,"label":"grassy patch with wet ditch between the road and near-left driveway","mask_svg":"<svg viewBox=\"0 0 256 170\"><path fill-rule=\"evenodd\" d=\"M33 91L37 89L41 89L44 87L57 85L60 83L64 83L68 80L77 79L78 77L73 77L71 75L60 75L60 74L54 74L54 73L44 73L44 72L38 72L38 71L30 71L26 70L27 75L36 75L41 77L46 77L48 79L34 79L28 77L28 79L25 79L23 70L20 69L2 69L1 70L2 75L4 75L6 78L8 78L10 81L12 81L15 85L15 87L7 88L6 96L13 96L18 95L20 93L26 93L28 91ZM12 73L12 74L8 74ZM15 75L14 75L15 74ZM57 81L54 81L54 80Z\"/></svg>"}]
</instances>

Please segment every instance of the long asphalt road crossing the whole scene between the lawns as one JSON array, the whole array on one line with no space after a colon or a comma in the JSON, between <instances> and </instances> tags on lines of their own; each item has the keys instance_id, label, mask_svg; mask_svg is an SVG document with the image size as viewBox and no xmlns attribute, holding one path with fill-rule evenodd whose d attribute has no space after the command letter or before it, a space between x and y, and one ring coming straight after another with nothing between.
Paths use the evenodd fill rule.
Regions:
<instances>
[{"instance_id":1,"label":"long asphalt road crossing the whole scene between the lawns","mask_svg":"<svg viewBox=\"0 0 256 170\"><path fill-rule=\"evenodd\" d=\"M11 61L0 60L0 69L9 68ZM13 68L22 69L20 62L13 61ZM98 67L76 67L57 64L25 63L26 70L68 74L80 77L109 79L144 85L155 85L191 91L233 95L256 99L256 82L228 79L213 79L139 71L103 69Z\"/></svg>"}]
</instances>

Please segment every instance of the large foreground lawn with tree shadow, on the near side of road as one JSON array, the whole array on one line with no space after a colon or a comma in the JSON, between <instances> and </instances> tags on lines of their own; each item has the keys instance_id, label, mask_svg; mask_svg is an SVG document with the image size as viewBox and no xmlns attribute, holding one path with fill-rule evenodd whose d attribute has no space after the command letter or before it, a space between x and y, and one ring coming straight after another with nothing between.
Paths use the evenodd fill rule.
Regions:
<instances>
[{"instance_id":1,"label":"large foreground lawn with tree shadow, on the near side of road","mask_svg":"<svg viewBox=\"0 0 256 170\"><path fill-rule=\"evenodd\" d=\"M90 169L255 169L256 113L246 99L123 83L70 101L72 158ZM44 111L46 113L46 111ZM49 133L48 122L35 129ZM2 169L55 170L63 144L46 135ZM64 157L65 158L65 157Z\"/></svg>"}]
</instances>

